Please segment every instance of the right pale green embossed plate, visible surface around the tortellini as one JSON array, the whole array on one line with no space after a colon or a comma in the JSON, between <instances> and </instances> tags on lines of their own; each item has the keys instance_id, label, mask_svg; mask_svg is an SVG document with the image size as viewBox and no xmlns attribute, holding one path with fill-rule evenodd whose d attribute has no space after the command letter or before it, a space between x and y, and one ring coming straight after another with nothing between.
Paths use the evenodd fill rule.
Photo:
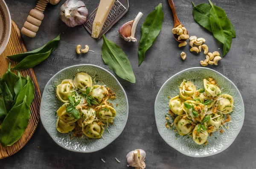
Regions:
<instances>
[{"instance_id":1,"label":"right pale green embossed plate, visible surface around the tortellini","mask_svg":"<svg viewBox=\"0 0 256 169\"><path fill-rule=\"evenodd\" d=\"M208 77L216 79L222 93L233 96L234 111L233 115L231 115L229 129L225 128L225 131L222 134L220 134L220 132L213 132L213 135L208 137L207 145L198 145L193 141L192 137L188 135L176 136L173 130L168 130L165 126L165 115L170 109L170 99L168 96L172 98L179 95L178 86L183 79L191 80L194 82L195 86L203 88L203 79ZM236 136L239 134L244 123L244 102L234 83L222 74L212 69L202 67L186 69L169 78L157 94L154 104L154 112L157 129L163 140L177 151L191 157L206 157L224 151L236 139Z\"/></svg>"}]
</instances>

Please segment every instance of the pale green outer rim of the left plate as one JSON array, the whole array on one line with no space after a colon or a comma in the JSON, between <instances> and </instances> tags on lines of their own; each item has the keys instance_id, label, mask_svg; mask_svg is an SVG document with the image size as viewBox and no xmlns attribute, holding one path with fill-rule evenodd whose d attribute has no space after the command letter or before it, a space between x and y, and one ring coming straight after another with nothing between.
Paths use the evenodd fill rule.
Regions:
<instances>
[{"instance_id":1,"label":"pale green outer rim of the left plate","mask_svg":"<svg viewBox=\"0 0 256 169\"><path fill-rule=\"evenodd\" d=\"M119 137L119 135L121 135L121 133L122 133L123 130L125 129L125 126L126 126L126 123L127 123L127 120L128 120L128 115L129 115L128 98L127 98L127 95L126 95L125 90L123 89L122 85L119 83L119 81L116 79L116 77L115 77L111 72L109 72L108 70L106 70L106 69L104 69L104 68L102 68L102 67L100 67L100 66L96 66L96 65L93 65L93 64L79 64L79 65L73 65L73 66L69 66L69 67L66 67L66 68L64 68L64 69L61 69L61 70L58 71L54 76L52 76L52 77L50 78L50 80L46 83L46 85L45 85L45 87L44 87L44 92L45 92L45 90L46 90L46 86L48 86L49 83L51 83L52 80L53 80L55 77L57 77L60 72L62 72L62 71L64 71L64 70L67 70L67 69L71 69L71 68L73 68L73 67L77 67L77 66L93 66L93 67L102 69L102 70L104 70L105 72L109 73L109 74L116 80L117 84L121 87L122 92L123 92L124 95L125 95L125 99L127 100L127 107L128 107L128 109L127 109L127 119L125 120L124 128L121 130L120 134L117 134L116 137L115 137L110 143L108 143L108 144L102 146L102 147L99 148L99 149L93 149L93 150L91 150L90 152L85 152L85 151L76 151L76 150L73 150L73 149L68 149L68 148L65 147L65 146L61 146L61 144L58 144L58 143L57 143L57 140L53 139L52 135L49 133L49 131L46 129L46 126L45 126L44 123L42 122L42 117L41 117L41 116L42 116L42 114L41 114L41 109L42 109L42 108L41 108L41 106L40 106L40 118L41 118L41 123L43 124L44 129L47 131L47 133L49 134L49 136L52 137L52 140L54 140L54 142L55 142L58 146L60 146L61 148L64 148L64 149L69 150L69 151L72 151L72 152L81 152L81 153L97 152L97 151L99 151L99 150L104 149L104 148L107 147L108 145L110 145L114 140L116 140L117 137ZM43 92L43 95L44 95L44 92ZM43 96L43 95L42 95L42 96ZM43 117L43 118L44 118L44 117Z\"/></svg>"}]
</instances>

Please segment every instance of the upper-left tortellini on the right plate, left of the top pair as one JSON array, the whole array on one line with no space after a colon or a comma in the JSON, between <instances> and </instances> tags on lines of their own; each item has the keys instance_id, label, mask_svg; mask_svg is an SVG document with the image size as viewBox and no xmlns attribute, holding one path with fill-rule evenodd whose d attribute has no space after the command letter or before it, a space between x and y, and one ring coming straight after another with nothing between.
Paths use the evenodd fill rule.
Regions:
<instances>
[{"instance_id":1,"label":"upper-left tortellini on the right plate, left of the top pair","mask_svg":"<svg viewBox=\"0 0 256 169\"><path fill-rule=\"evenodd\" d=\"M183 80L180 84L180 97L185 100L193 100L193 95L196 91L196 86L193 82Z\"/></svg>"}]
</instances>

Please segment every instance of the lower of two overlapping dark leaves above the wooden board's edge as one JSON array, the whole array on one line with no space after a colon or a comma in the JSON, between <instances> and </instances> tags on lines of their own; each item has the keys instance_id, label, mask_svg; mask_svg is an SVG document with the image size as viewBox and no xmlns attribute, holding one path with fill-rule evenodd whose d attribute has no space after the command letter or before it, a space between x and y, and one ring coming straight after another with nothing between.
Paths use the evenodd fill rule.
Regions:
<instances>
[{"instance_id":1,"label":"lower of two overlapping dark leaves above the wooden board's edge","mask_svg":"<svg viewBox=\"0 0 256 169\"><path fill-rule=\"evenodd\" d=\"M51 54L51 50L45 52L45 53L39 53L39 54L31 54L27 57L25 57L23 60L21 60L20 63L18 63L14 68L14 70L25 70L30 69L39 63L46 60L49 55Z\"/></svg>"}]
</instances>

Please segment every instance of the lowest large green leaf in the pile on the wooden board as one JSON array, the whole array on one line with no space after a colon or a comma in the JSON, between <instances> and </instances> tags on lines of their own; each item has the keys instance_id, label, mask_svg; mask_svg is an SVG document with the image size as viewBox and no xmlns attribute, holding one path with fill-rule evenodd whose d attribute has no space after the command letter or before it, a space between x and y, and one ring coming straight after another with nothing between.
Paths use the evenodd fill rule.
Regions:
<instances>
[{"instance_id":1,"label":"lowest large green leaf in the pile on the wooden board","mask_svg":"<svg viewBox=\"0 0 256 169\"><path fill-rule=\"evenodd\" d=\"M22 103L14 106L3 120L0 130L2 146L11 146L19 140L28 126L30 110L26 100L27 96L25 95Z\"/></svg>"}]
</instances>

